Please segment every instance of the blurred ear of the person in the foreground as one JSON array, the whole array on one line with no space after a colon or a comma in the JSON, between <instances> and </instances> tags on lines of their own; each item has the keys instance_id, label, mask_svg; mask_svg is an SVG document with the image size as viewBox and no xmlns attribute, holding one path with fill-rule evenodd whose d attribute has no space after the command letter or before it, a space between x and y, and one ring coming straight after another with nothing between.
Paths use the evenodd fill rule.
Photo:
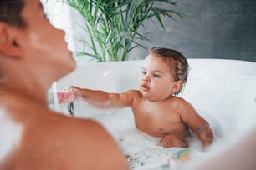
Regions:
<instances>
[{"instance_id":1,"label":"blurred ear of the person in the foreground","mask_svg":"<svg viewBox=\"0 0 256 170\"><path fill-rule=\"evenodd\" d=\"M7 57L23 57L25 55L24 50L15 39L17 32L17 28L12 28L8 24L0 22L0 53Z\"/></svg>"}]
</instances>

